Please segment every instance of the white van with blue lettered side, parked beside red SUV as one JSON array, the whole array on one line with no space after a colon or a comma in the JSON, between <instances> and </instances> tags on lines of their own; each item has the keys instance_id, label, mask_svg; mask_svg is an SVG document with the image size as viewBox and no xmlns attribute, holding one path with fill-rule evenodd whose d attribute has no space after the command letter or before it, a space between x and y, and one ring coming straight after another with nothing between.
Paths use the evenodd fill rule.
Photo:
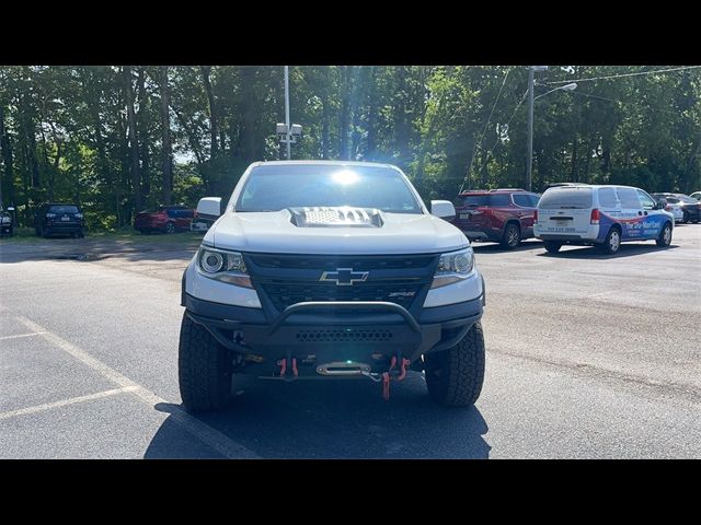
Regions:
<instances>
[{"instance_id":1,"label":"white van with blue lettered side, parked beside red SUV","mask_svg":"<svg viewBox=\"0 0 701 525\"><path fill-rule=\"evenodd\" d=\"M574 244L616 254L628 241L669 246L674 228L674 215L640 188L582 184L545 190L538 202L533 234L551 253Z\"/></svg>"}]
</instances>

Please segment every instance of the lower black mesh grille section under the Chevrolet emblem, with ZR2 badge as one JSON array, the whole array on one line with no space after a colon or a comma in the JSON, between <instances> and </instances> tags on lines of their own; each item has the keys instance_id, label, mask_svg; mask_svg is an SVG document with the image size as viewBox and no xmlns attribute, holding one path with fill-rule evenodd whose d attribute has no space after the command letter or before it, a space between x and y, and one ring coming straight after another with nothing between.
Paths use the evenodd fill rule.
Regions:
<instances>
[{"instance_id":1,"label":"lower black mesh grille section under the Chevrolet emblem, with ZR2 badge","mask_svg":"<svg viewBox=\"0 0 701 525\"><path fill-rule=\"evenodd\" d=\"M409 308L418 294L423 283L364 283L353 287L337 287L333 283L262 283L265 294L276 310L308 301L387 301Z\"/></svg>"}]
</instances>

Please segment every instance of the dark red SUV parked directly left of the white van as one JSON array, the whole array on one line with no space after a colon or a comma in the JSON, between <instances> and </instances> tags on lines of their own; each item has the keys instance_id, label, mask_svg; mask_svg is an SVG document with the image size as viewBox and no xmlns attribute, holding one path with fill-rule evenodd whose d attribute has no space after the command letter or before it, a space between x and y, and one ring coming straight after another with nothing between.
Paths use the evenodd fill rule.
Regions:
<instances>
[{"instance_id":1,"label":"dark red SUV parked directly left of the white van","mask_svg":"<svg viewBox=\"0 0 701 525\"><path fill-rule=\"evenodd\" d=\"M452 223L470 241L492 241L507 249L533 236L539 196L524 189L463 191L456 199Z\"/></svg>"}]
</instances>

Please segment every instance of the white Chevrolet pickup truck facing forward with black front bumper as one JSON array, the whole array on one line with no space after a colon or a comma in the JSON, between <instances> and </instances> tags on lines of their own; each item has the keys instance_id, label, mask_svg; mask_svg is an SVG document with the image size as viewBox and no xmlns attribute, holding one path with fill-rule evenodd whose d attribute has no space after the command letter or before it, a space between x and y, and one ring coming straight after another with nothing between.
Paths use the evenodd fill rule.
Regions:
<instances>
[{"instance_id":1,"label":"white Chevrolet pickup truck facing forward with black front bumper","mask_svg":"<svg viewBox=\"0 0 701 525\"><path fill-rule=\"evenodd\" d=\"M199 201L218 217L220 198ZM468 238L395 166L256 162L183 275L180 389L225 407L234 374L359 378L389 399L424 372L430 397L471 406L484 378L484 279Z\"/></svg>"}]
</instances>

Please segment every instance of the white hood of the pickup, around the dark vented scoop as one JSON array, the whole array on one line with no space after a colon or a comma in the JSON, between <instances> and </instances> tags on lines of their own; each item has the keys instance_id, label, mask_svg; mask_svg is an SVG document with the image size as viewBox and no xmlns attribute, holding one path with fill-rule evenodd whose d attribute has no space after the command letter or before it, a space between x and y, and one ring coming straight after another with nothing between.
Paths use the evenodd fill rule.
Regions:
<instances>
[{"instance_id":1,"label":"white hood of the pickup, around the dark vented scoop","mask_svg":"<svg viewBox=\"0 0 701 525\"><path fill-rule=\"evenodd\" d=\"M288 210L227 212L205 235L222 249L273 254L437 254L469 246L452 224L435 215L383 213L380 228L299 228Z\"/></svg>"}]
</instances>

